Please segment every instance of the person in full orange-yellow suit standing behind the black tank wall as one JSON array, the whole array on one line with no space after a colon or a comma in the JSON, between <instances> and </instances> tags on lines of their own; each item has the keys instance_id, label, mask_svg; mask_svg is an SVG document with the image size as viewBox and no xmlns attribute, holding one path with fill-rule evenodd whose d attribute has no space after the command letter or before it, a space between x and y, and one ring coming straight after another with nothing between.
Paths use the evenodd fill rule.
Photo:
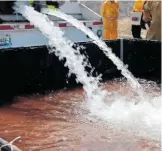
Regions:
<instances>
[{"instance_id":1,"label":"person in full orange-yellow suit standing behind the black tank wall","mask_svg":"<svg viewBox=\"0 0 162 151\"><path fill-rule=\"evenodd\" d=\"M104 23L104 40L118 39L119 2L106 0L101 7Z\"/></svg>"}]
</instances>

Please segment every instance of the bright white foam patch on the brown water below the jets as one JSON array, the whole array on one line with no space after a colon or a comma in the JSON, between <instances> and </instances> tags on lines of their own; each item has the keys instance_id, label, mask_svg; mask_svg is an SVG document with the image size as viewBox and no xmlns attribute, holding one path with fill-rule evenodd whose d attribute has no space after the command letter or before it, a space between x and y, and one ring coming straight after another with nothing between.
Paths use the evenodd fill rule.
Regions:
<instances>
[{"instance_id":1,"label":"bright white foam patch on the brown water below the jets","mask_svg":"<svg viewBox=\"0 0 162 151\"><path fill-rule=\"evenodd\" d=\"M125 103L121 96L116 96L110 106L98 108L96 104L91 108L91 115L113 124L113 127L120 131L158 141L161 137L161 114L161 110L153 108L148 102L135 106L131 100Z\"/></svg>"}]
</instances>

